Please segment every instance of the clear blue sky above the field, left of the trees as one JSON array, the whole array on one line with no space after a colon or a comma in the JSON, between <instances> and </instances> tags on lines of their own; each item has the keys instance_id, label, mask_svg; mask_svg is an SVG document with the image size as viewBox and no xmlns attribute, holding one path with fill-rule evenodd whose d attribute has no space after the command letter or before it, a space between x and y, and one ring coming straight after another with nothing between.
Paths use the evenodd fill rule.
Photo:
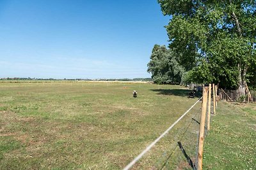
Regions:
<instances>
[{"instance_id":1,"label":"clear blue sky above the field, left of the trees","mask_svg":"<svg viewBox=\"0 0 256 170\"><path fill-rule=\"evenodd\" d=\"M0 0L0 78L147 78L157 0Z\"/></svg>"}]
</instances>

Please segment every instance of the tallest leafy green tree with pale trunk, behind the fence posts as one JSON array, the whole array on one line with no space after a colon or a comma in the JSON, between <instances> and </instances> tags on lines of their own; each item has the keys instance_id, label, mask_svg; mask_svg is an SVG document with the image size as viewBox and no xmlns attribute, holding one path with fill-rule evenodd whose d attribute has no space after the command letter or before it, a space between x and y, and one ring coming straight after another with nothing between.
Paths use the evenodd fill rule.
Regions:
<instances>
[{"instance_id":1,"label":"tallest leafy green tree with pale trunk, behind the fence posts","mask_svg":"<svg viewBox=\"0 0 256 170\"><path fill-rule=\"evenodd\" d=\"M255 64L256 1L158 0L169 48L198 83L214 82L244 92Z\"/></svg>"}]
</instances>

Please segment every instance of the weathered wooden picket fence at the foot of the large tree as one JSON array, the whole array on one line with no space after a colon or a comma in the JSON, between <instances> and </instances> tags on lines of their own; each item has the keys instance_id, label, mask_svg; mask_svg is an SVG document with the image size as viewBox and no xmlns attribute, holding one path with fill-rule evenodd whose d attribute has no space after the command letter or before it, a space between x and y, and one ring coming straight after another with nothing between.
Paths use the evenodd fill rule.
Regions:
<instances>
[{"instance_id":1,"label":"weathered wooden picket fence at the foot of the large tree","mask_svg":"<svg viewBox=\"0 0 256 170\"><path fill-rule=\"evenodd\" d=\"M245 94L243 95L239 90L218 89L218 95L220 96L220 100L245 102L245 103L256 102L255 90L250 90L250 95L248 95L248 91L246 91ZM252 96L252 97L248 97L248 96Z\"/></svg>"}]
</instances>

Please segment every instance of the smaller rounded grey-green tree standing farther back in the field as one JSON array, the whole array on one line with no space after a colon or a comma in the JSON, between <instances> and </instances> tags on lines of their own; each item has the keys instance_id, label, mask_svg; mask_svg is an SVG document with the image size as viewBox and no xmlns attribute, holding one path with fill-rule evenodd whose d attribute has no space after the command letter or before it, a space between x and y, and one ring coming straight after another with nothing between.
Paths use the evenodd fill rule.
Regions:
<instances>
[{"instance_id":1,"label":"smaller rounded grey-green tree standing farther back in the field","mask_svg":"<svg viewBox=\"0 0 256 170\"><path fill-rule=\"evenodd\" d=\"M156 83L180 83L184 68L175 60L172 51L166 46L154 45L148 73Z\"/></svg>"}]
</instances>

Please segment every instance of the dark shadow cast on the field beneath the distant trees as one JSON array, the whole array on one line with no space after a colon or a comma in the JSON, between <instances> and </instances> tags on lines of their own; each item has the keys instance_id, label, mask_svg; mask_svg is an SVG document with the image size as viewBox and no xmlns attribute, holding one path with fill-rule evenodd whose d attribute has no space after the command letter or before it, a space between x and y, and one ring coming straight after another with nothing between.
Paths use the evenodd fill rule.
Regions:
<instances>
[{"instance_id":1,"label":"dark shadow cast on the field beneath the distant trees","mask_svg":"<svg viewBox=\"0 0 256 170\"><path fill-rule=\"evenodd\" d=\"M191 90L187 90L187 89L151 89L151 90L161 95L172 95L172 96L182 96L182 97L188 97L189 92L191 92ZM202 96L202 94L199 92L196 92L195 97L200 97L200 96Z\"/></svg>"}]
</instances>

